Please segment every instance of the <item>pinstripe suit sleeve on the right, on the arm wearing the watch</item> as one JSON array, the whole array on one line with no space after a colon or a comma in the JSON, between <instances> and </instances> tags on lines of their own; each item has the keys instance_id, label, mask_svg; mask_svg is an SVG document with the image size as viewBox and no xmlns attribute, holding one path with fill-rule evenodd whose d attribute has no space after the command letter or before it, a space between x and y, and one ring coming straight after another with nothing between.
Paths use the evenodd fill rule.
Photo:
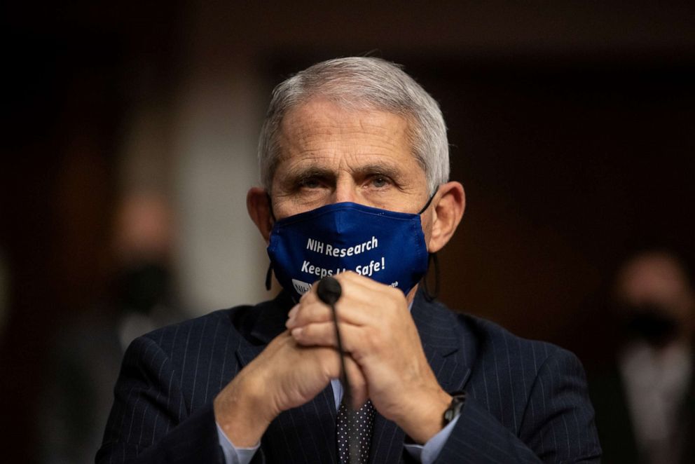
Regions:
<instances>
[{"instance_id":1,"label":"pinstripe suit sleeve on the right, on the arm wearing the watch","mask_svg":"<svg viewBox=\"0 0 695 464\"><path fill-rule=\"evenodd\" d=\"M599 463L582 364L556 349L532 383L515 432L472 397L435 463Z\"/></svg>"}]
</instances>

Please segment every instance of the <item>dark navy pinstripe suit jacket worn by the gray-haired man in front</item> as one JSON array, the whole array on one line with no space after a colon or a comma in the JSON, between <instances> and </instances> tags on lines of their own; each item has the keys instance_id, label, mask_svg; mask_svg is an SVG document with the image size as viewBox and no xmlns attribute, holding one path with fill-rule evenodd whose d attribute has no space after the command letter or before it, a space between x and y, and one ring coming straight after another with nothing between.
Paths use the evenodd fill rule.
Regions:
<instances>
[{"instance_id":1,"label":"dark navy pinstripe suit jacket worn by the gray-haired man in front","mask_svg":"<svg viewBox=\"0 0 695 464\"><path fill-rule=\"evenodd\" d=\"M136 339L97 463L222 463L212 400L284 330L290 306L281 295ZM598 463L593 408L574 355L452 313L421 293L412 314L441 386L468 393L437 463ZM335 421L328 385L270 424L253 462L337 463ZM377 416L371 463L408 462L404 439L396 424Z\"/></svg>"}]
</instances>

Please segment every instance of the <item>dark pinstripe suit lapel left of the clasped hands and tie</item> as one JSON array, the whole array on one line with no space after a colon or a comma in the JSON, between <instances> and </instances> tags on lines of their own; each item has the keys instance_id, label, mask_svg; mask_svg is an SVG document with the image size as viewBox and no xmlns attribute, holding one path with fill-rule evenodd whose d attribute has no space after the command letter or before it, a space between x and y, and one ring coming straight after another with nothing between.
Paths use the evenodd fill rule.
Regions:
<instances>
[{"instance_id":1,"label":"dark pinstripe suit lapel left of the clasped hands and tie","mask_svg":"<svg viewBox=\"0 0 695 464\"><path fill-rule=\"evenodd\" d=\"M273 301L256 306L255 318L249 322L249 340L240 343L236 351L240 369L284 331L292 304L281 293ZM331 385L314 400L277 416L263 435L261 449L269 462L337 463L336 407Z\"/></svg>"}]
</instances>

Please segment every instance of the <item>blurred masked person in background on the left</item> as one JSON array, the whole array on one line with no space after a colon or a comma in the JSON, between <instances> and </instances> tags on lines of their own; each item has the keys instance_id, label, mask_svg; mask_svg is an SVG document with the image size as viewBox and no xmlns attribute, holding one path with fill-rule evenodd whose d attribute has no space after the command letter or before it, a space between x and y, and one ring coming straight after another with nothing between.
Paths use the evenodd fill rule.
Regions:
<instances>
[{"instance_id":1,"label":"blurred masked person in background on the left","mask_svg":"<svg viewBox=\"0 0 695 464\"><path fill-rule=\"evenodd\" d=\"M181 319L173 303L173 240L172 212L162 195L137 191L123 197L106 257L110 292L56 331L41 418L43 462L94 462L125 348Z\"/></svg>"}]
</instances>

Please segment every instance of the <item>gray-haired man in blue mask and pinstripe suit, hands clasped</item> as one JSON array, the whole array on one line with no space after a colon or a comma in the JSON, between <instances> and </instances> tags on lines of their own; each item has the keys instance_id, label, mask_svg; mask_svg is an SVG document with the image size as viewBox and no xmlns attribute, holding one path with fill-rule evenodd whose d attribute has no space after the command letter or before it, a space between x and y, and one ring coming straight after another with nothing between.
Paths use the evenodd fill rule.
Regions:
<instances>
[{"instance_id":1,"label":"gray-haired man in blue mask and pinstripe suit, hands clasped","mask_svg":"<svg viewBox=\"0 0 695 464\"><path fill-rule=\"evenodd\" d=\"M411 77L371 57L298 73L275 88L259 158L247 206L284 291L133 342L97 462L598 462L572 354L418 285L465 196ZM312 285L326 275L351 395Z\"/></svg>"}]
</instances>

